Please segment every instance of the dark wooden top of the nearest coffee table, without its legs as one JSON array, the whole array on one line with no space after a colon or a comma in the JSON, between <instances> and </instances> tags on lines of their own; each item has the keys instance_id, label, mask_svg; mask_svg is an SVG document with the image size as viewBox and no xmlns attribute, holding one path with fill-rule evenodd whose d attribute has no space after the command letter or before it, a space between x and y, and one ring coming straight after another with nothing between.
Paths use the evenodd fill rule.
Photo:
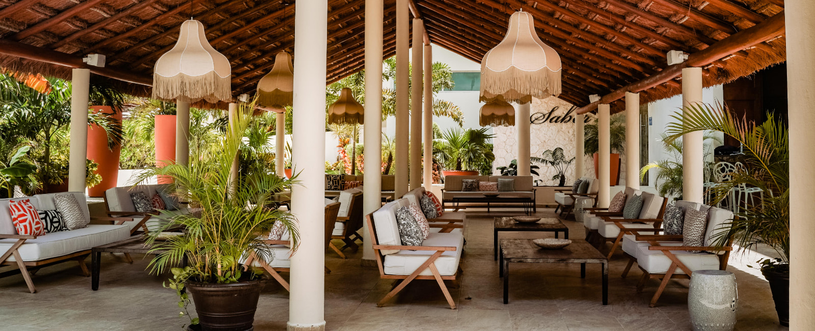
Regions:
<instances>
[{"instance_id":1,"label":"dark wooden top of the nearest coffee table, without its legs","mask_svg":"<svg viewBox=\"0 0 815 331\"><path fill-rule=\"evenodd\" d=\"M581 239L562 249L541 249L531 239L502 239L500 245L504 261L512 263L608 263L606 255Z\"/></svg>"}]
</instances>

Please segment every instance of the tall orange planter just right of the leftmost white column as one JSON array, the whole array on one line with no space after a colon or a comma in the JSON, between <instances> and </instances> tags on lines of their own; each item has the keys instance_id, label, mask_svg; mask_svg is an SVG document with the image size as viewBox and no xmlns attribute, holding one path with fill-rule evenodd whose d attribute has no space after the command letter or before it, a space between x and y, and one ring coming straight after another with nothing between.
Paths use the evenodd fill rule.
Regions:
<instances>
[{"instance_id":1,"label":"tall orange planter just right of the leftmost white column","mask_svg":"<svg viewBox=\"0 0 815 331\"><path fill-rule=\"evenodd\" d=\"M121 124L121 112L114 112L108 106L90 106L95 113L104 113L111 117L113 121ZM119 177L119 153L121 146L118 144L112 149L108 148L108 134L99 126L88 126L88 159L99 164L95 174L102 176L102 183L93 188L88 188L88 196L104 196L108 188L115 188Z\"/></svg>"}]
</instances>

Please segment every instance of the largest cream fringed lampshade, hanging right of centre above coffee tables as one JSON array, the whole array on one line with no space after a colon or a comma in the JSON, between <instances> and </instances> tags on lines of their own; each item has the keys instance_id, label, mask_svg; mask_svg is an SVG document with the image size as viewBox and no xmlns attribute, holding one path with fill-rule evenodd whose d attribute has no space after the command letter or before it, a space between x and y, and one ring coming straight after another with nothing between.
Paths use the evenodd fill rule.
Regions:
<instances>
[{"instance_id":1,"label":"largest cream fringed lampshade, hanging right of centre above coffee tables","mask_svg":"<svg viewBox=\"0 0 815 331\"><path fill-rule=\"evenodd\" d=\"M509 17L509 30L481 61L481 101L503 99L526 104L535 98L561 93L560 55L535 33L532 15Z\"/></svg>"}]
</instances>

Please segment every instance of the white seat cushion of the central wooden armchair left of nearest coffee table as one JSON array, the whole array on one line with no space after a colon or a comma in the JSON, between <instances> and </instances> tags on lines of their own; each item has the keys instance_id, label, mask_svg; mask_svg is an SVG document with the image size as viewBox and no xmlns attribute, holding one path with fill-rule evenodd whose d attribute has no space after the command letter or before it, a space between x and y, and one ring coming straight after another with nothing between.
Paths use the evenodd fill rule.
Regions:
<instances>
[{"instance_id":1,"label":"white seat cushion of the central wooden armchair left of nearest coffee table","mask_svg":"<svg viewBox=\"0 0 815 331\"><path fill-rule=\"evenodd\" d=\"M434 262L441 276L452 276L456 274L461 258L461 247L464 245L464 236L461 236L461 234L457 232L430 232L430 235L427 236L427 239L425 239L421 245L456 247L455 251L444 252ZM386 275L410 275L434 253L434 250L403 249L400 250L399 253L386 255L382 265L385 267ZM420 275L432 276L433 272L430 271L430 268L426 268L424 271L421 271Z\"/></svg>"}]
</instances>

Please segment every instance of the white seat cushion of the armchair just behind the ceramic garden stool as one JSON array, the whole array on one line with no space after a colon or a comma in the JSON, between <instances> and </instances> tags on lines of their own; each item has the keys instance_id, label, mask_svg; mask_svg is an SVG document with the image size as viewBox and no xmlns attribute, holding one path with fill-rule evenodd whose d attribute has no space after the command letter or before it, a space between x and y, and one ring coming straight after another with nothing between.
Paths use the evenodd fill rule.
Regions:
<instances>
[{"instance_id":1,"label":"white seat cushion of the armchair just behind the ceramic garden stool","mask_svg":"<svg viewBox=\"0 0 815 331\"><path fill-rule=\"evenodd\" d=\"M679 246L682 245L679 241L665 242L660 245ZM640 265L645 271L652 274L663 274L671 267L671 259L667 258L659 250L650 250L649 246L637 247L637 264ZM697 270L719 270L719 256L710 253L688 253L685 250L672 250L671 253L676 255L676 258L685 264L690 271ZM676 273L684 274L680 268L676 268Z\"/></svg>"}]
</instances>

